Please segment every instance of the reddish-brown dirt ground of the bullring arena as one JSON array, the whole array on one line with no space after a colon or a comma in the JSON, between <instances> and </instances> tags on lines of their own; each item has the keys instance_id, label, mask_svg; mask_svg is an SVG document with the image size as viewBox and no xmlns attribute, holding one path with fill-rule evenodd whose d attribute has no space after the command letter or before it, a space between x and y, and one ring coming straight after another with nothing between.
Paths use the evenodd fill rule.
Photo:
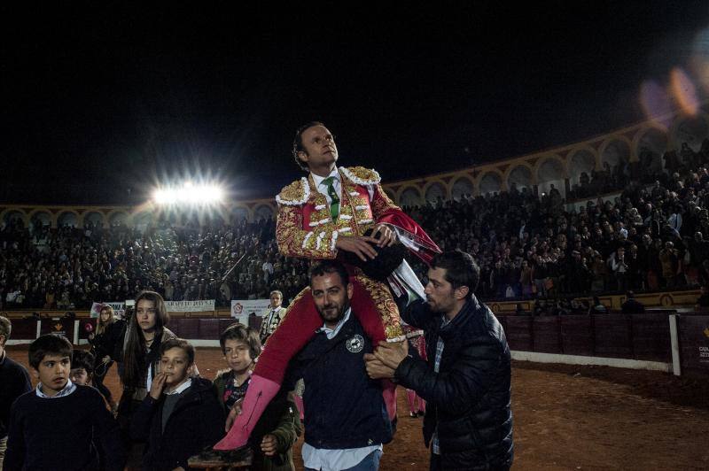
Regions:
<instances>
[{"instance_id":1,"label":"reddish-brown dirt ground of the bullring arena","mask_svg":"<svg viewBox=\"0 0 709 471\"><path fill-rule=\"evenodd\" d=\"M8 347L27 366L27 349ZM218 349L199 348L199 369L214 377ZM106 384L118 393L115 367ZM671 374L611 367L515 362L514 469L709 469L709 384ZM409 418L399 391L399 425L380 469L423 470L423 419ZM300 446L295 461L302 469Z\"/></svg>"}]
</instances>

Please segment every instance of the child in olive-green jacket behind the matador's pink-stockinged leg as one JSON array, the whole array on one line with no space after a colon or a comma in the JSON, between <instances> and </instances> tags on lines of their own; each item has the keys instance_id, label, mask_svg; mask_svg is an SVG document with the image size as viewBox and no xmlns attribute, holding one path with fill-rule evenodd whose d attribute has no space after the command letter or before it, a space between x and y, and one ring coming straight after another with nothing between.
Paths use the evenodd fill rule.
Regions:
<instances>
[{"instance_id":1,"label":"child in olive-green jacket behind the matador's pink-stockinged leg","mask_svg":"<svg viewBox=\"0 0 709 471\"><path fill-rule=\"evenodd\" d=\"M224 410L230 411L230 419L233 420L239 411L240 400L246 394L255 360L261 353L261 340L256 330L236 323L222 332L219 343L230 369L217 375L214 386ZM281 391L268 405L253 430L253 468L269 471L295 469L292 445L300 431L297 408L292 398Z\"/></svg>"}]
</instances>

